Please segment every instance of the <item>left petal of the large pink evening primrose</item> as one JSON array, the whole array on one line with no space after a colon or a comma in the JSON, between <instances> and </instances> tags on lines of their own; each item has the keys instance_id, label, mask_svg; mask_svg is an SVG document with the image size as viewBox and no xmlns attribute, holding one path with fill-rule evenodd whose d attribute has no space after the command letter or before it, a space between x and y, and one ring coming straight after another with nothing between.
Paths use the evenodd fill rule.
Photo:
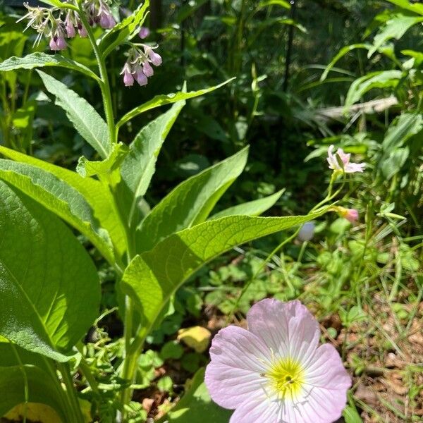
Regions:
<instances>
[{"instance_id":1,"label":"left petal of the large pink evening primrose","mask_svg":"<svg viewBox=\"0 0 423 423\"><path fill-rule=\"evenodd\" d=\"M247 398L263 396L263 376L271 352L253 333L237 326L221 329L210 348L205 382L215 403L233 409Z\"/></svg>"}]
</instances>

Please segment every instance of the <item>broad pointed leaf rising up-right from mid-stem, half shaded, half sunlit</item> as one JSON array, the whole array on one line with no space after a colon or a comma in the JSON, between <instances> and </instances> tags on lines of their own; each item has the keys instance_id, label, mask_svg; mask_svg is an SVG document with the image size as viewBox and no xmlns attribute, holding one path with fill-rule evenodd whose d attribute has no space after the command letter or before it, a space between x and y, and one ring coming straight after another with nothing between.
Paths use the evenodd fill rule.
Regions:
<instances>
[{"instance_id":1,"label":"broad pointed leaf rising up-right from mid-stem, half shaded, half sunlit","mask_svg":"<svg viewBox=\"0 0 423 423\"><path fill-rule=\"evenodd\" d=\"M136 234L136 251L151 250L174 232L207 219L223 192L247 163L248 149L205 169L180 183L142 221Z\"/></svg>"}]
</instances>

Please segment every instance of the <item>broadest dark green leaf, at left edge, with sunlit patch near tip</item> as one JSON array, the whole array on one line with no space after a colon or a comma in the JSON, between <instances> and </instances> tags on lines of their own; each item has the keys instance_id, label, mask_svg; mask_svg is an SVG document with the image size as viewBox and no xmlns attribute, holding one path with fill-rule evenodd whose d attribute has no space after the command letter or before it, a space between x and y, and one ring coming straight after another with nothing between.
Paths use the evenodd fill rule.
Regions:
<instances>
[{"instance_id":1,"label":"broadest dark green leaf, at left edge, with sunlit patch near tip","mask_svg":"<svg viewBox=\"0 0 423 423\"><path fill-rule=\"evenodd\" d=\"M44 207L4 182L0 193L0 335L66 361L97 317L97 270Z\"/></svg>"}]
</instances>

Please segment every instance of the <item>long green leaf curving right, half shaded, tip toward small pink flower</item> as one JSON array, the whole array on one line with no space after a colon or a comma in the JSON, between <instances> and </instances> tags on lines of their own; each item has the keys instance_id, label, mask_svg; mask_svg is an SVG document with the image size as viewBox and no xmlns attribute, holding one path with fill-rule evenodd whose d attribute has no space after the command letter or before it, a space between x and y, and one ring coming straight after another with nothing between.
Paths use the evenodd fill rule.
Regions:
<instances>
[{"instance_id":1,"label":"long green leaf curving right, half shaded, tip toward small pink flower","mask_svg":"<svg viewBox=\"0 0 423 423\"><path fill-rule=\"evenodd\" d=\"M317 219L324 212L307 216L227 216L174 233L152 250L137 255L123 274L121 288L135 301L146 336L162 307L176 289L204 263L270 233Z\"/></svg>"}]
</instances>

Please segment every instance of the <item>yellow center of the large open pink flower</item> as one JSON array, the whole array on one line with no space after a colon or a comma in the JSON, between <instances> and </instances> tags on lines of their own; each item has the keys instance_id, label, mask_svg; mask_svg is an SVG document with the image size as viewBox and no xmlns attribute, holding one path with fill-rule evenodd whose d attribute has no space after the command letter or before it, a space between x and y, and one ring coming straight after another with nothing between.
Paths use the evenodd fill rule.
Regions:
<instances>
[{"instance_id":1,"label":"yellow center of the large open pink flower","mask_svg":"<svg viewBox=\"0 0 423 423\"><path fill-rule=\"evenodd\" d=\"M284 358L275 362L266 376L278 398L296 398L305 382L304 371L298 361Z\"/></svg>"}]
</instances>

